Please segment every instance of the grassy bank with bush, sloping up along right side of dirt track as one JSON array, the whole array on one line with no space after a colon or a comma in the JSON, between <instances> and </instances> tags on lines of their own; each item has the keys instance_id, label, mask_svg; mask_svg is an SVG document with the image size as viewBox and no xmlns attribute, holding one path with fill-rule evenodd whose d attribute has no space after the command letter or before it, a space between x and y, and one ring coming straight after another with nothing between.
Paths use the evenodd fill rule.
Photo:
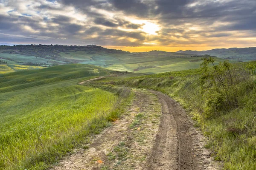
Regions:
<instances>
[{"instance_id":1,"label":"grassy bank with bush, sloping up along right side of dirt track","mask_svg":"<svg viewBox=\"0 0 256 170\"><path fill-rule=\"evenodd\" d=\"M208 64L207 64L208 65ZM117 81L172 96L190 111L225 170L256 169L256 62L168 72Z\"/></svg>"}]
</instances>

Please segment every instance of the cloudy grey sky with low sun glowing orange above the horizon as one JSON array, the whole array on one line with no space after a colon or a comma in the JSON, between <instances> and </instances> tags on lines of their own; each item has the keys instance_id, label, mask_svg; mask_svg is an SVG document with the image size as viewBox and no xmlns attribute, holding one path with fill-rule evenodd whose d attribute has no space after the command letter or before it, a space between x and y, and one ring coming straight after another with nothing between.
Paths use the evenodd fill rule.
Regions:
<instances>
[{"instance_id":1,"label":"cloudy grey sky with low sun glowing orange above the horizon","mask_svg":"<svg viewBox=\"0 0 256 170\"><path fill-rule=\"evenodd\" d=\"M0 43L126 51L256 46L256 0L0 0Z\"/></svg>"}]
</instances>

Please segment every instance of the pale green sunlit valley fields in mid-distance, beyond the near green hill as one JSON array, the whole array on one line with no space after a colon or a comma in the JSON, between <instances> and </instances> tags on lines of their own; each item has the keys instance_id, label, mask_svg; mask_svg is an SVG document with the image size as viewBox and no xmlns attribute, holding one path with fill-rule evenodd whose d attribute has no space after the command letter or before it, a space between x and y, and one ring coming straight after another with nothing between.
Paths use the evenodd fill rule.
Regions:
<instances>
[{"instance_id":1,"label":"pale green sunlit valley fields in mid-distance, beyond the near green hill","mask_svg":"<svg viewBox=\"0 0 256 170\"><path fill-rule=\"evenodd\" d=\"M172 53L171 53L172 54ZM115 71L128 71L135 73L163 73L168 71L180 71L192 68L199 68L203 57L165 57L166 54L160 52L150 52L145 56L136 54L87 54L84 51L61 53L67 59L83 60L79 63L98 65ZM182 55L182 54L180 54ZM186 56L186 55L185 55ZM190 62L192 61L192 62ZM195 61L195 62L193 62ZM225 59L217 58L216 63L224 62ZM215 64L216 64L215 63ZM139 67L140 64L140 67ZM135 70L135 71L134 71Z\"/></svg>"}]
</instances>

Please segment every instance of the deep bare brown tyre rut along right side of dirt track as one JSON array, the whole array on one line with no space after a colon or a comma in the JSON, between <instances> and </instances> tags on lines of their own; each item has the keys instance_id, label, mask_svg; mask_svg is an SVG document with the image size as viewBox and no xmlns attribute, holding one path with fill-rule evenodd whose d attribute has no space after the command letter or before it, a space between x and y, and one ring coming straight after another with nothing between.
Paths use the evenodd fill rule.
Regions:
<instances>
[{"instance_id":1,"label":"deep bare brown tyre rut along right side of dirt track","mask_svg":"<svg viewBox=\"0 0 256 170\"><path fill-rule=\"evenodd\" d=\"M162 122L150 160L151 167L148 169L220 169L220 165L210 158L210 151L204 148L204 136L193 127L191 117L188 116L175 100L169 98L169 96L157 91L151 91L151 93L158 96L162 104L163 117L161 119ZM168 134L170 132L173 134ZM176 140L174 138L176 138ZM169 141L172 141L172 143L169 143ZM170 146L173 148L170 148ZM173 164L175 156L176 164ZM166 160L166 158L169 158L169 160ZM169 166L162 165L162 162L164 161L166 161L166 164L169 164ZM157 167L157 165L159 167Z\"/></svg>"}]
</instances>

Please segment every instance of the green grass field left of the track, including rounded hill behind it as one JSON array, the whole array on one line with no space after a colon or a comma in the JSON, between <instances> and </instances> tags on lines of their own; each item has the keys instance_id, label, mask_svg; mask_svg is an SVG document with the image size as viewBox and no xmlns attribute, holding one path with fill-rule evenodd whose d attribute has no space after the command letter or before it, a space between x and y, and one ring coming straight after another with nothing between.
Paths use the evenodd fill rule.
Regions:
<instances>
[{"instance_id":1,"label":"green grass field left of the track, including rounded hill behind it","mask_svg":"<svg viewBox=\"0 0 256 170\"><path fill-rule=\"evenodd\" d=\"M0 75L0 169L46 169L107 126L129 91L78 82L109 74L73 64Z\"/></svg>"}]
</instances>

